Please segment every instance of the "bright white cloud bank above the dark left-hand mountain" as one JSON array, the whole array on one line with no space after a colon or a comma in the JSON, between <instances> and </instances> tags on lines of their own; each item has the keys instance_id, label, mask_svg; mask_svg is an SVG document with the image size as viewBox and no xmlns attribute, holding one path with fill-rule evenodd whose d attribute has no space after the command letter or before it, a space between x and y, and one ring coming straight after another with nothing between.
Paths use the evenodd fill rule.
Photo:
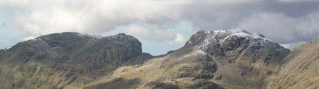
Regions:
<instances>
[{"instance_id":1,"label":"bright white cloud bank above the dark left-hand mountain","mask_svg":"<svg viewBox=\"0 0 319 89\"><path fill-rule=\"evenodd\" d=\"M31 36L58 32L100 34L135 22L168 28L187 1L0 0L14 22ZM176 5L176 6L174 6ZM162 21L160 21L162 20ZM168 22L167 22L168 21Z\"/></svg>"}]
</instances>

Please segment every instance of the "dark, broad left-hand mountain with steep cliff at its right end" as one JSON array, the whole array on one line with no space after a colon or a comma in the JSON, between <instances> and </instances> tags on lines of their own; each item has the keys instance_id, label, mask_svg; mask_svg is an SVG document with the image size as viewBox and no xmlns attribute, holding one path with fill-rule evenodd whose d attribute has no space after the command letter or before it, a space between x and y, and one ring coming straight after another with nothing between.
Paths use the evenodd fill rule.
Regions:
<instances>
[{"instance_id":1,"label":"dark, broad left-hand mountain with steep cliff at its right end","mask_svg":"<svg viewBox=\"0 0 319 89\"><path fill-rule=\"evenodd\" d=\"M67 89L109 74L142 53L125 34L50 34L0 50L0 89Z\"/></svg>"}]
</instances>

